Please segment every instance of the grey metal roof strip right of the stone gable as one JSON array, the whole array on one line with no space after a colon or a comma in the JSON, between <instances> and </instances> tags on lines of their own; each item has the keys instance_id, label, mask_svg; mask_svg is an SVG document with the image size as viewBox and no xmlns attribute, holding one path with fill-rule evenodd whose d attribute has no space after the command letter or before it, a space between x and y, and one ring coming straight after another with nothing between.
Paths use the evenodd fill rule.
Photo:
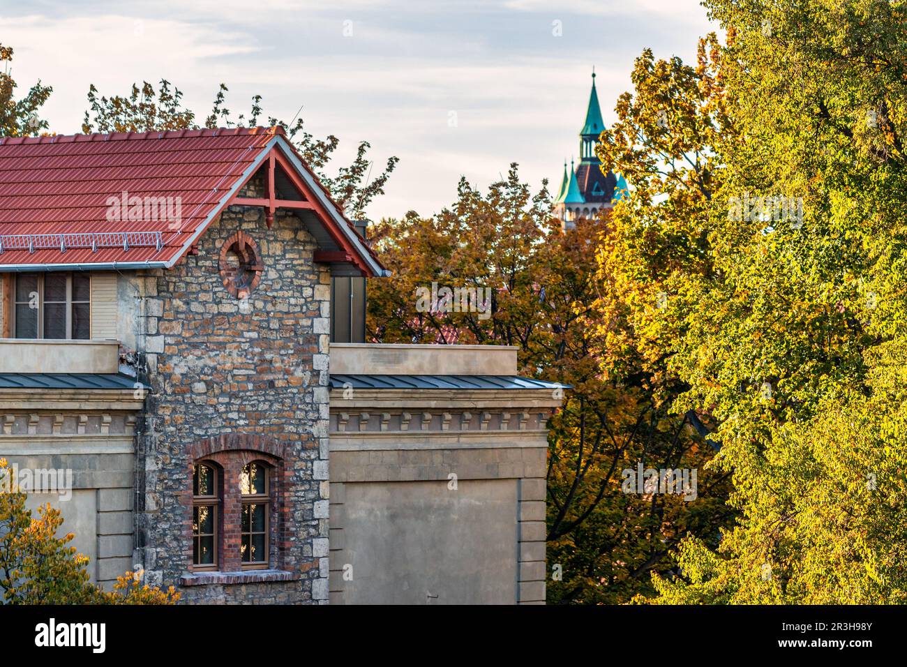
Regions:
<instances>
[{"instance_id":1,"label":"grey metal roof strip right of the stone gable","mask_svg":"<svg viewBox=\"0 0 907 667\"><path fill-rule=\"evenodd\" d=\"M557 389L570 388L509 375L332 375L331 387L342 389Z\"/></svg>"}]
</instances>

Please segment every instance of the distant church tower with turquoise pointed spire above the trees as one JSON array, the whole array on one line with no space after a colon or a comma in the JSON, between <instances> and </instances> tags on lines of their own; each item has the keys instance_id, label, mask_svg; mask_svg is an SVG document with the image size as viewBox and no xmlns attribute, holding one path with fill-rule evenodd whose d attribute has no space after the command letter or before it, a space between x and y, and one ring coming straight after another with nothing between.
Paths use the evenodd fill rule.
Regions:
<instances>
[{"instance_id":1,"label":"distant church tower with turquoise pointed spire above the trees","mask_svg":"<svg viewBox=\"0 0 907 667\"><path fill-rule=\"evenodd\" d=\"M564 177L561 189L554 200L554 210L561 218L565 230L576 226L581 218L593 218L602 209L610 209L614 201L626 192L626 181L616 177L613 172L607 175L601 172L601 161L595 154L599 135L605 129L601 119L599 93L595 89L595 70L592 70L592 90L589 94L589 105L586 108L586 122L580 130L580 164L575 166L571 161L571 170L567 172L564 162ZM615 186L622 183L622 190Z\"/></svg>"}]
</instances>

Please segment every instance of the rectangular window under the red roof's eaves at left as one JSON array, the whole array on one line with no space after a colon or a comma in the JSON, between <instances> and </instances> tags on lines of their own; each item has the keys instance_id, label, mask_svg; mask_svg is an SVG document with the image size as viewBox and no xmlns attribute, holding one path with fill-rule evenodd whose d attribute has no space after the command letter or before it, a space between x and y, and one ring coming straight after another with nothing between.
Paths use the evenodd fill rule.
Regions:
<instances>
[{"instance_id":1,"label":"rectangular window under the red roof's eaves at left","mask_svg":"<svg viewBox=\"0 0 907 667\"><path fill-rule=\"evenodd\" d=\"M15 277L15 338L91 338L89 273L23 273Z\"/></svg>"}]
</instances>

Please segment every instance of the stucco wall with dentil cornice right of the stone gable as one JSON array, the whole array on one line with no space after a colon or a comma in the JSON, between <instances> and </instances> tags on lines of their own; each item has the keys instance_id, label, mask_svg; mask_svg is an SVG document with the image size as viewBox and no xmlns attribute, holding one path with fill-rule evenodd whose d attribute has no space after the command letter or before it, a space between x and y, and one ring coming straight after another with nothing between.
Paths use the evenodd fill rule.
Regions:
<instances>
[{"instance_id":1,"label":"stucco wall with dentil cornice right of the stone gable","mask_svg":"<svg viewBox=\"0 0 907 667\"><path fill-rule=\"evenodd\" d=\"M543 390L333 390L331 603L544 603L559 403Z\"/></svg>"}]
</instances>

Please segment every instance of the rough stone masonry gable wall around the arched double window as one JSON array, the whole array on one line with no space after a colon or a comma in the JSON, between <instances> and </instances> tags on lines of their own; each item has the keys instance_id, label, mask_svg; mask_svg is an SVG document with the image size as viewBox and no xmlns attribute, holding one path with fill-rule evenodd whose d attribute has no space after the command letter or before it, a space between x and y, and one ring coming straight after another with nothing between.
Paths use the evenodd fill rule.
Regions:
<instances>
[{"instance_id":1,"label":"rough stone masonry gable wall around the arched double window","mask_svg":"<svg viewBox=\"0 0 907 667\"><path fill-rule=\"evenodd\" d=\"M245 194L259 189L254 182ZM238 231L264 264L248 305L229 294L219 270L221 246ZM268 230L264 211L230 207L197 254L143 281L137 342L140 378L152 391L137 438L135 558L146 580L192 578L191 466L200 443L219 438L244 460L258 451L276 462L268 570L200 574L181 586L184 602L327 603L327 558L321 564L316 554L327 556L330 276L313 263L315 249L293 214L278 211ZM232 477L236 466L227 467ZM221 567L235 571L236 554L228 556ZM249 574L266 581L249 583Z\"/></svg>"}]
</instances>

